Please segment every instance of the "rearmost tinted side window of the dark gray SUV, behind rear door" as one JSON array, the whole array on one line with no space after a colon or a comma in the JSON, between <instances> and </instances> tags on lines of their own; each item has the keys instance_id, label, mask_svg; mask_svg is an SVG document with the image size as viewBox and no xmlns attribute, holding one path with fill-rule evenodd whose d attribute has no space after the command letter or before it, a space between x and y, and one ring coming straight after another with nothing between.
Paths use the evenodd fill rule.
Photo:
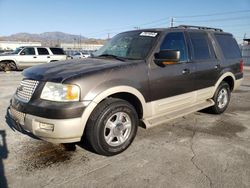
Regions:
<instances>
[{"instance_id":1,"label":"rearmost tinted side window of the dark gray SUV, behind rear door","mask_svg":"<svg viewBox=\"0 0 250 188\"><path fill-rule=\"evenodd\" d=\"M215 34L215 38L226 59L241 58L239 46L232 35Z\"/></svg>"}]
</instances>

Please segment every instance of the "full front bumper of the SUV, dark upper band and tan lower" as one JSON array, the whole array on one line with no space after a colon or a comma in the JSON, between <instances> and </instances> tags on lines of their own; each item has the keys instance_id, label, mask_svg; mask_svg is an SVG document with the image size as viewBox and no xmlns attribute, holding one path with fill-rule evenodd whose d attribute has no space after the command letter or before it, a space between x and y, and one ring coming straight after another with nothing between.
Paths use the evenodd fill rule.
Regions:
<instances>
[{"instance_id":1,"label":"full front bumper of the SUV, dark upper band and tan lower","mask_svg":"<svg viewBox=\"0 0 250 188\"><path fill-rule=\"evenodd\" d=\"M45 104L47 104L46 107L44 106ZM40 104L40 106L35 108L32 103L25 104L13 97L8 109L8 117L14 123L12 126L19 131L21 129L21 132L32 133L36 137L52 143L80 141L83 134L82 113L84 107L80 108L81 115L75 117L79 113L76 112L79 110L79 104L75 105L75 108L71 106L69 109L63 108L65 107L63 103L55 106L53 102L48 103L48 101L45 101L45 104ZM41 107L43 107L42 112L37 110ZM30 108L36 109L33 111L33 114L29 113ZM68 110L70 110L70 113L65 115Z\"/></svg>"}]
</instances>

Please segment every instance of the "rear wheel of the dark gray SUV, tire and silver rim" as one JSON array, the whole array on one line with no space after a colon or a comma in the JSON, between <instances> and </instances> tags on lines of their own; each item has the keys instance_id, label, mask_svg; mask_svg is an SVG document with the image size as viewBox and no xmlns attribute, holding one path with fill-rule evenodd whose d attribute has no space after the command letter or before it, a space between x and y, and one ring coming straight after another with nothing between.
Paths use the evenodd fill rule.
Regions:
<instances>
[{"instance_id":1,"label":"rear wheel of the dark gray SUV, tire and silver rim","mask_svg":"<svg viewBox=\"0 0 250 188\"><path fill-rule=\"evenodd\" d=\"M227 82L222 81L212 98L215 104L214 106L208 108L209 112L213 114L223 113L228 107L230 97L230 87Z\"/></svg>"}]
</instances>

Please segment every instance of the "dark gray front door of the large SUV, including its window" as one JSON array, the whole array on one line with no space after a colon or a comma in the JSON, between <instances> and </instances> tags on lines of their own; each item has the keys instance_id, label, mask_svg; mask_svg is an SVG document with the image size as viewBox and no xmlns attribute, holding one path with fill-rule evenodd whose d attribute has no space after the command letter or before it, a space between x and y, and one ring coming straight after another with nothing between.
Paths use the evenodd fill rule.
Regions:
<instances>
[{"instance_id":1,"label":"dark gray front door of the large SUV, including its window","mask_svg":"<svg viewBox=\"0 0 250 188\"><path fill-rule=\"evenodd\" d=\"M185 103L194 95L182 95L195 90L195 66L188 60L188 50L186 37L183 32L167 33L163 39L159 50L179 50L180 61L176 64L166 65L165 67L157 66L154 61L150 64L149 80L151 101L160 101L162 108L169 105L165 102L169 97L173 97L173 101ZM182 95L183 97L174 97ZM190 98L191 97L191 98Z\"/></svg>"}]
</instances>

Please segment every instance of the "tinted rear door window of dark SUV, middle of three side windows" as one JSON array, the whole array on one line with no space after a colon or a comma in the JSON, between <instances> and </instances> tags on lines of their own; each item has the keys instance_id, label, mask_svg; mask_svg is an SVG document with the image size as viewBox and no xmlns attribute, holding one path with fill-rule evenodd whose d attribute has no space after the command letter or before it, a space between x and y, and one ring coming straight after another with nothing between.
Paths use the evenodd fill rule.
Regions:
<instances>
[{"instance_id":1,"label":"tinted rear door window of dark SUV, middle of three side windows","mask_svg":"<svg viewBox=\"0 0 250 188\"><path fill-rule=\"evenodd\" d=\"M210 59L211 54L208 44L208 36L205 33L190 33L193 45L194 59Z\"/></svg>"}]
</instances>

